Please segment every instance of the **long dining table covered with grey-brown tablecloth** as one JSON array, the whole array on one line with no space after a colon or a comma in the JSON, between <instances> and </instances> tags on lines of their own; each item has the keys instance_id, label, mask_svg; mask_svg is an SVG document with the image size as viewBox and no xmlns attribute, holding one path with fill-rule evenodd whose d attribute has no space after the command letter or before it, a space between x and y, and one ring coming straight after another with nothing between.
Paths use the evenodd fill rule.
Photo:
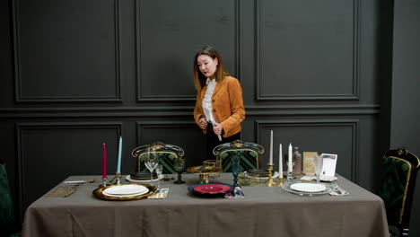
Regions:
<instances>
[{"instance_id":1,"label":"long dining table covered with grey-brown tablecloth","mask_svg":"<svg viewBox=\"0 0 420 237\"><path fill-rule=\"evenodd\" d=\"M66 180L92 179L98 181L83 183L66 198L46 194L33 202L25 212L22 235L389 236L382 199L339 175L333 183L349 195L300 196L261 183L242 186L246 198L202 198L188 191L198 174L183 174L185 184L161 180L161 187L169 188L167 198L109 201L92 195L100 176ZM232 184L232 173L210 181Z\"/></svg>"}]
</instances>

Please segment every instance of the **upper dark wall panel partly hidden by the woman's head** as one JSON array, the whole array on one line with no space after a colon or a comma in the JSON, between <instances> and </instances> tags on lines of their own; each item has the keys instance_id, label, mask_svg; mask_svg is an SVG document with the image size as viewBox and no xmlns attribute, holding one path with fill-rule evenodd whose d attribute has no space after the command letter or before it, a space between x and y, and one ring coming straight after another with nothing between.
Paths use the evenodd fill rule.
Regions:
<instances>
[{"instance_id":1,"label":"upper dark wall panel partly hidden by the woman's head","mask_svg":"<svg viewBox=\"0 0 420 237\"><path fill-rule=\"evenodd\" d=\"M138 0L137 100L194 101L193 60L204 44L217 48L234 75L238 2Z\"/></svg>"}]
</instances>

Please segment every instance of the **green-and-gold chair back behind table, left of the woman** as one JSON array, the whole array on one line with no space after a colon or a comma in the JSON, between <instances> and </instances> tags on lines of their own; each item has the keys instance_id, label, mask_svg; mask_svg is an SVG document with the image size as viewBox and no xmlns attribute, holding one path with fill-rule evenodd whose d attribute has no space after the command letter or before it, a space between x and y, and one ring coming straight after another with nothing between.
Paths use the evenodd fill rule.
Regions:
<instances>
[{"instance_id":1,"label":"green-and-gold chair back behind table, left of the woman","mask_svg":"<svg viewBox=\"0 0 420 237\"><path fill-rule=\"evenodd\" d=\"M161 142L156 142L151 145L142 145L131 152L131 155L137 158L137 171L148 171L144 165L144 154L147 152L147 147L154 146L156 153L159 154L159 163L163 165L162 173L176 173L173 159L180 158L184 155L184 150L177 145L168 145Z\"/></svg>"}]
</instances>

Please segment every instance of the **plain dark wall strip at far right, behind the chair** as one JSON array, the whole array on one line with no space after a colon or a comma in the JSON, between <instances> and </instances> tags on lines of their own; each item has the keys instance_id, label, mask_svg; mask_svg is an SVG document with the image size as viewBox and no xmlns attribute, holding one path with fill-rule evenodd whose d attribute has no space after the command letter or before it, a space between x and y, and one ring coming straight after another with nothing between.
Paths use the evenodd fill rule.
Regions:
<instances>
[{"instance_id":1,"label":"plain dark wall strip at far right, behind the chair","mask_svg":"<svg viewBox=\"0 0 420 237\"><path fill-rule=\"evenodd\" d=\"M420 1L395 1L390 148L405 146L420 157ZM410 219L410 236L420 236L420 174Z\"/></svg>"}]
</instances>

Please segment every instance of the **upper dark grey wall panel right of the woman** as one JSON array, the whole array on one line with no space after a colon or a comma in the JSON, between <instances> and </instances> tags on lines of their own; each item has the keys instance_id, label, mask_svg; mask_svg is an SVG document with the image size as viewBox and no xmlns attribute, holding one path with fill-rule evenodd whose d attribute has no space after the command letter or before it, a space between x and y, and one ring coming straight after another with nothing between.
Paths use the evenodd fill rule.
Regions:
<instances>
[{"instance_id":1,"label":"upper dark grey wall panel right of the woman","mask_svg":"<svg viewBox=\"0 0 420 237\"><path fill-rule=\"evenodd\" d=\"M357 99L357 6L257 1L258 100Z\"/></svg>"}]
</instances>

